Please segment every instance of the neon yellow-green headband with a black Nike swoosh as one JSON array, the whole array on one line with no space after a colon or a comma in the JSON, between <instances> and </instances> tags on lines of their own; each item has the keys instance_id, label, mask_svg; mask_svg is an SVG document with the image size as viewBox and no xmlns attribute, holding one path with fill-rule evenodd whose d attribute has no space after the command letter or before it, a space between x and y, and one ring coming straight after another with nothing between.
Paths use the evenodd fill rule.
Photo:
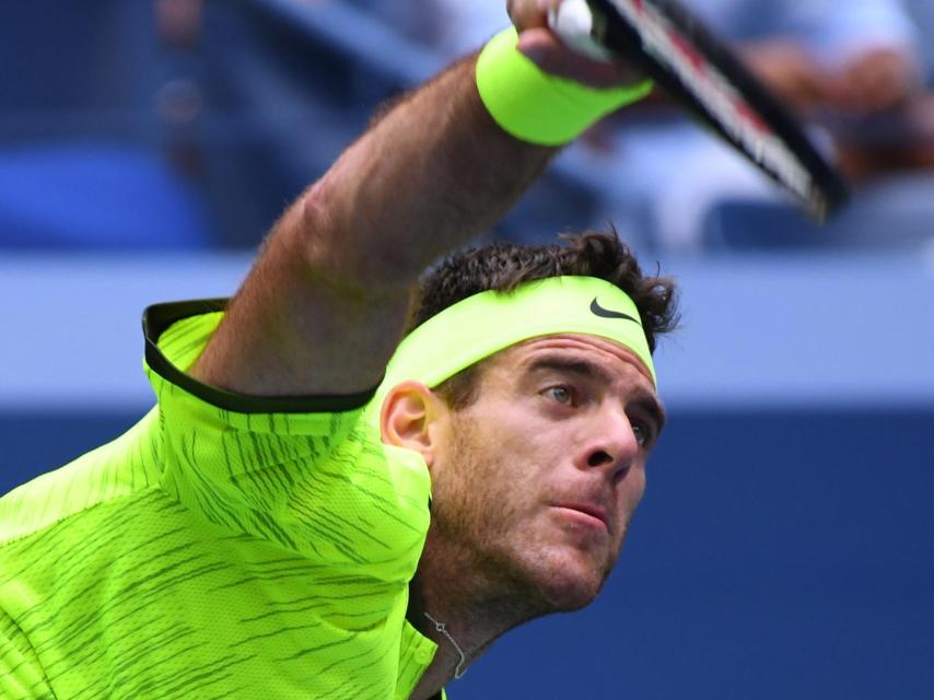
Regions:
<instances>
[{"instance_id":1,"label":"neon yellow-green headband with a black Nike swoosh","mask_svg":"<svg viewBox=\"0 0 934 700\"><path fill-rule=\"evenodd\" d=\"M416 328L389 360L371 418L378 421L386 395L405 381L433 388L504 348L564 332L599 336L629 348L657 383L639 311L626 292L593 277L550 277L514 292L474 294Z\"/></svg>"}]
</instances>

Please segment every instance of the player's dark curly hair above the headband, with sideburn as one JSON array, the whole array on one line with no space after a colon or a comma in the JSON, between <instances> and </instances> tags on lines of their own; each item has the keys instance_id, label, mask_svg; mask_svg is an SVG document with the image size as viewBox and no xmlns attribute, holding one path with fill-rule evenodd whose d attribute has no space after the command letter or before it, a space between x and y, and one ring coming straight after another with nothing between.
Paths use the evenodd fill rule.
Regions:
<instances>
[{"instance_id":1,"label":"player's dark curly hair above the headband, with sideburn","mask_svg":"<svg viewBox=\"0 0 934 700\"><path fill-rule=\"evenodd\" d=\"M656 336L678 324L674 280L644 276L615 230L564 234L562 238L564 245L494 243L452 255L422 278L408 330L474 294L509 292L524 282L575 275L607 280L626 292L639 310L649 349L654 352ZM477 372L482 364L458 372L435 390L453 408L466 408L476 399Z\"/></svg>"}]
</instances>

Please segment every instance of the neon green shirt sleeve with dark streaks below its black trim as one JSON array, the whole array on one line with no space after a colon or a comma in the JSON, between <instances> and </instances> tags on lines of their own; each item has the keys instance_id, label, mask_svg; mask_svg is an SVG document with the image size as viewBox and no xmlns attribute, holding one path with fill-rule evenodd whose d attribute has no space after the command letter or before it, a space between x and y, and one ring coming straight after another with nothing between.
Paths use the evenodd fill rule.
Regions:
<instances>
[{"instance_id":1,"label":"neon green shirt sleeve with dark streaks below its black trim","mask_svg":"<svg viewBox=\"0 0 934 700\"><path fill-rule=\"evenodd\" d=\"M147 364L163 489L227 533L330 571L407 583L428 532L424 460L382 443L364 417L372 393L283 406L189 377L221 315L176 319L148 337L157 350L148 347Z\"/></svg>"}]
</instances>

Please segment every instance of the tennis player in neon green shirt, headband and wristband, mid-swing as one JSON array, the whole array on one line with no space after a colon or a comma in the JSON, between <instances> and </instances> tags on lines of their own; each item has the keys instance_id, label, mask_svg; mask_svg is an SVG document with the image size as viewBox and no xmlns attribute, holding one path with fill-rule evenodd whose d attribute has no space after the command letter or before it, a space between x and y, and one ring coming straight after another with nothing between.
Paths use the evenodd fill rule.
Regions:
<instances>
[{"instance_id":1,"label":"tennis player in neon green shirt, headband and wristband, mid-swing","mask_svg":"<svg viewBox=\"0 0 934 700\"><path fill-rule=\"evenodd\" d=\"M230 304L145 312L141 422L0 500L0 697L442 697L597 594L664 422L672 283L599 234L418 282L647 90L512 12L518 43L372 126Z\"/></svg>"}]
</instances>

